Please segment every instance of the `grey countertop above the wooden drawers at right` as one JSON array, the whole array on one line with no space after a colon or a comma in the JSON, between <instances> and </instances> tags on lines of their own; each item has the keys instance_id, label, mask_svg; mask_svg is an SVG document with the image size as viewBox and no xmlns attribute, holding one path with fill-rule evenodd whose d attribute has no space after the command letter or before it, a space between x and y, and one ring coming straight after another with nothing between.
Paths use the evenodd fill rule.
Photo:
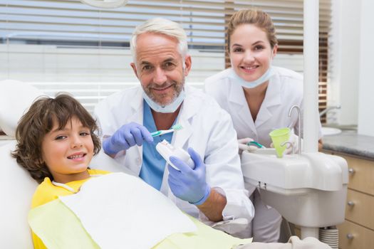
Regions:
<instances>
[{"instance_id":1,"label":"grey countertop above the wooden drawers at right","mask_svg":"<svg viewBox=\"0 0 374 249\"><path fill-rule=\"evenodd\" d=\"M357 134L356 130L343 130L340 134L325 136L323 149L374 160L374 137Z\"/></svg>"}]
</instances>

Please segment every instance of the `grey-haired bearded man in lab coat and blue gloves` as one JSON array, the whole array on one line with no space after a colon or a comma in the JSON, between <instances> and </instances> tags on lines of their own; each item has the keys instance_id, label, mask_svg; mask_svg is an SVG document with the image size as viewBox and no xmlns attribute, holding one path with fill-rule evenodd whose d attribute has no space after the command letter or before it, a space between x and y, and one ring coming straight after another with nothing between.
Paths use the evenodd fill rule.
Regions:
<instances>
[{"instance_id":1,"label":"grey-haired bearded man in lab coat and blue gloves","mask_svg":"<svg viewBox=\"0 0 374 249\"><path fill-rule=\"evenodd\" d=\"M140 86L95 107L104 152L205 223L234 224L237 218L249 223L254 207L244 189L231 118L212 97L185 85L192 65L185 31L173 21L154 18L137 26L130 48ZM150 135L173 124L183 129ZM171 160L181 171L168 166L155 149L163 139L188 150L194 169L177 157Z\"/></svg>"}]
</instances>

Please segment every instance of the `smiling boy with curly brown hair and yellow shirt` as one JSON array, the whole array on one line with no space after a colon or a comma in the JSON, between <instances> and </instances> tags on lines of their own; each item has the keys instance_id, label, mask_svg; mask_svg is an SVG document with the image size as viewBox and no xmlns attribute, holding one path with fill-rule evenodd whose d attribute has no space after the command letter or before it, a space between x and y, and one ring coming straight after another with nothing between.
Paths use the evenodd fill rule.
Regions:
<instances>
[{"instance_id":1,"label":"smiling boy with curly brown hair and yellow shirt","mask_svg":"<svg viewBox=\"0 0 374 249\"><path fill-rule=\"evenodd\" d=\"M108 173L88 169L101 147L96 129L93 117L69 95L41 97L21 117L12 156L40 184L31 208L78 192L90 175ZM33 243L34 248L45 248L34 233Z\"/></svg>"}]
</instances>

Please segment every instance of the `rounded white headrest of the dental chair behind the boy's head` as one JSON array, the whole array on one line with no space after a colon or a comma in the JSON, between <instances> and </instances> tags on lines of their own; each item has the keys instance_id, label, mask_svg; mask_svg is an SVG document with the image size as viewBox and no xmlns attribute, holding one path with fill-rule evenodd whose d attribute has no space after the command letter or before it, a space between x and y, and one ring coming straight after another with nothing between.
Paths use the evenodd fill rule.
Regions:
<instances>
[{"instance_id":1,"label":"rounded white headrest of the dental chair behind the boy's head","mask_svg":"<svg viewBox=\"0 0 374 249\"><path fill-rule=\"evenodd\" d=\"M19 119L43 92L16 80L2 80L0 86L0 128L15 137Z\"/></svg>"}]
</instances>

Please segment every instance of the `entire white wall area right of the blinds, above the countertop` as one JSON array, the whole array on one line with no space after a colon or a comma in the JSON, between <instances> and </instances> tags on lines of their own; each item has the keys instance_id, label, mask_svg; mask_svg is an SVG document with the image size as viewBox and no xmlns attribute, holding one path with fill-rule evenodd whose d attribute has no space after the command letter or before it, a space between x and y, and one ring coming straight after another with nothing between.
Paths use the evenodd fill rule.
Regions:
<instances>
[{"instance_id":1,"label":"entire white wall area right of the blinds, above the countertop","mask_svg":"<svg viewBox=\"0 0 374 249\"><path fill-rule=\"evenodd\" d=\"M336 122L374 137L374 1L333 0L332 70L328 105Z\"/></svg>"}]
</instances>

